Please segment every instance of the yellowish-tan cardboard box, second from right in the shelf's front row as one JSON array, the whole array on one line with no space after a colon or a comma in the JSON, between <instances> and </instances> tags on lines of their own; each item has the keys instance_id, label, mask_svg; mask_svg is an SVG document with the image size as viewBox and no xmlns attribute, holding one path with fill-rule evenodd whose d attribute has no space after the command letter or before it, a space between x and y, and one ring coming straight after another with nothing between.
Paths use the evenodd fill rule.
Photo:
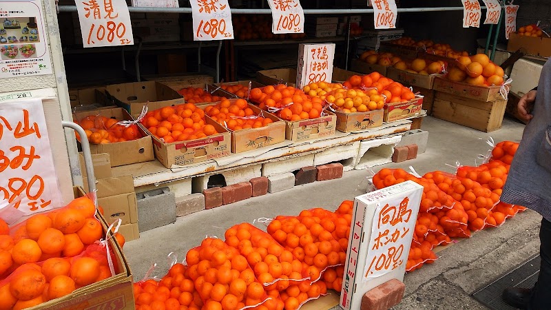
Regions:
<instances>
[{"instance_id":1,"label":"yellowish-tan cardboard box, second from right in the shelf's front row","mask_svg":"<svg viewBox=\"0 0 551 310\"><path fill-rule=\"evenodd\" d=\"M337 111L337 130L340 132L360 132L383 125L384 110L344 113Z\"/></svg>"}]
</instances>

